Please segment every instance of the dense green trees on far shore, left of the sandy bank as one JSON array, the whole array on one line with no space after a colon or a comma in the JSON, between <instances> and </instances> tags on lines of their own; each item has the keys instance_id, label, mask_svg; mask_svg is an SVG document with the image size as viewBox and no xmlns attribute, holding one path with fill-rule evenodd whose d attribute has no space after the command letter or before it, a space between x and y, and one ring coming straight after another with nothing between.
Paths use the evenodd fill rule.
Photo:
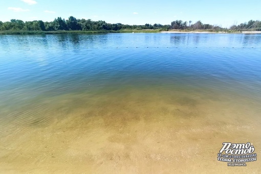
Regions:
<instances>
[{"instance_id":1,"label":"dense green trees on far shore, left of the sandy bank","mask_svg":"<svg viewBox=\"0 0 261 174\"><path fill-rule=\"evenodd\" d=\"M3 23L0 21L0 31L7 30L26 30L26 31L57 31L57 30L114 30L118 31L120 29L130 29L130 30L142 30L142 29L170 29L169 25L160 25L160 24L145 24L145 25L123 25L120 23L117 24L108 24L105 21L93 21L91 19L76 19L73 16L70 16L67 20L62 19L61 17L55 18L51 22L43 22L42 20L26 21L23 20L11 19Z\"/></svg>"}]
</instances>

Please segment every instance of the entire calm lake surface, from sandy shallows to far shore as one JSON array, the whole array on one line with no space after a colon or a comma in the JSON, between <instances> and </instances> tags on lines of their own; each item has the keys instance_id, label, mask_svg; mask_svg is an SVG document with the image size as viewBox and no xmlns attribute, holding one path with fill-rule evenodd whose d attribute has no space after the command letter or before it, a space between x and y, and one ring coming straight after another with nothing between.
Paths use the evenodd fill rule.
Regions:
<instances>
[{"instance_id":1,"label":"entire calm lake surface, from sandy shallows to far shore","mask_svg":"<svg viewBox=\"0 0 261 174\"><path fill-rule=\"evenodd\" d=\"M261 172L261 34L0 35L0 172Z\"/></svg>"}]
</instances>

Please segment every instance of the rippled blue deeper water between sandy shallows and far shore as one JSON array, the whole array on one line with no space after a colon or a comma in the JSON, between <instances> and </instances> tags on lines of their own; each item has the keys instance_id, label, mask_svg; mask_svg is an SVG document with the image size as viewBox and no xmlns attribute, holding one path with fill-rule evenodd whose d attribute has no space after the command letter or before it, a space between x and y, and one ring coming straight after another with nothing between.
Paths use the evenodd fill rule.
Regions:
<instances>
[{"instance_id":1,"label":"rippled blue deeper water between sandy shallows and far shore","mask_svg":"<svg viewBox=\"0 0 261 174\"><path fill-rule=\"evenodd\" d=\"M41 102L65 94L183 90L260 102L260 42L258 34L1 35L0 133L48 124L59 107Z\"/></svg>"}]
</instances>

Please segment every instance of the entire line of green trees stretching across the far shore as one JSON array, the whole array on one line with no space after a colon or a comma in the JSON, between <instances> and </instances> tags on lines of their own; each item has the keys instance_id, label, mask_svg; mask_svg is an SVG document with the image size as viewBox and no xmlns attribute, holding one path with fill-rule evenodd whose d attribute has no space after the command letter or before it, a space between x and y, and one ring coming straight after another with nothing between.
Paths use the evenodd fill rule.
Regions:
<instances>
[{"instance_id":1,"label":"entire line of green trees stretching across the far shore","mask_svg":"<svg viewBox=\"0 0 261 174\"><path fill-rule=\"evenodd\" d=\"M93 30L114 30L118 31L121 29L129 30L142 30L142 29L160 29L167 31L170 29L176 30L220 30L222 29L219 26L213 26L210 24L203 24L200 20L192 24L192 21L182 21L175 20L172 21L170 25L161 25L161 24L145 24L145 25L123 25L120 23L117 24L108 24L105 21L93 21L91 19L76 19L73 16L70 16L67 20L62 19L61 17L55 18L51 22L44 22L42 20L26 21L11 19L3 23L0 21L0 31L8 30L25 30L25 31L57 31L57 30L82 30L82 31L93 31ZM261 21L259 20L249 20L248 23L240 24L238 26L233 25L230 28L231 30L243 30L243 29L256 29L259 31L261 29Z\"/></svg>"}]
</instances>

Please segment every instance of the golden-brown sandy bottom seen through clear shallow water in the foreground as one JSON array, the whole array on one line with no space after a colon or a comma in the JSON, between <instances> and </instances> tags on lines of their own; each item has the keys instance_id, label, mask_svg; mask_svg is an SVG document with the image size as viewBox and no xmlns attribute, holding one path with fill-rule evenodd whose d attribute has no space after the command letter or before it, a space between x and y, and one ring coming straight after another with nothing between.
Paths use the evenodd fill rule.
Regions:
<instances>
[{"instance_id":1,"label":"golden-brown sandy bottom seen through clear shallow water in the foreground","mask_svg":"<svg viewBox=\"0 0 261 174\"><path fill-rule=\"evenodd\" d=\"M2 126L1 173L261 172L258 157L246 167L217 161L223 142L251 142L260 154L261 107L246 98L146 89L41 105L23 108L41 120Z\"/></svg>"}]
</instances>

